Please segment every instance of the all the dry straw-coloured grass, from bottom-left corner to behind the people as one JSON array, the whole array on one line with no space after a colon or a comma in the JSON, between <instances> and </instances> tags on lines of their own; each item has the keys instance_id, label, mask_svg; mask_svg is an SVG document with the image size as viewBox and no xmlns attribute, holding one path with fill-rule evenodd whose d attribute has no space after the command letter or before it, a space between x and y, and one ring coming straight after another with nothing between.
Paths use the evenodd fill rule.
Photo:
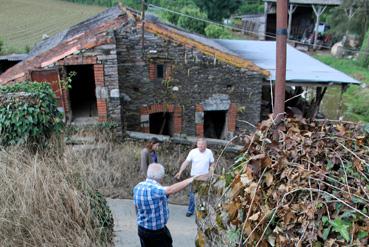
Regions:
<instances>
[{"instance_id":1,"label":"all the dry straw-coloured grass, from bottom-left corner to behind the people","mask_svg":"<svg viewBox=\"0 0 369 247\"><path fill-rule=\"evenodd\" d=\"M109 134L90 134L98 141L89 148L55 145L36 154L20 147L0 150L0 246L109 245L111 235L99 224L108 217L98 210L96 215L91 193L97 189L105 196L130 198L144 179L139 173L144 143L116 143ZM190 148L161 146L163 184L176 182L174 174ZM221 159L220 167L226 164ZM187 202L186 192L171 201Z\"/></svg>"}]
</instances>

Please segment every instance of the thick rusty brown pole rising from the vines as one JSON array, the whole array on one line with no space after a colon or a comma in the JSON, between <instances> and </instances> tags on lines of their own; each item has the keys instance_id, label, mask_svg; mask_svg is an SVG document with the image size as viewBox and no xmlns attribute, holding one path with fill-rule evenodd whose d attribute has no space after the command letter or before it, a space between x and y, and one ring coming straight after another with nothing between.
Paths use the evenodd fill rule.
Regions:
<instances>
[{"instance_id":1,"label":"thick rusty brown pole rising from the vines","mask_svg":"<svg viewBox=\"0 0 369 247\"><path fill-rule=\"evenodd\" d=\"M279 122L284 116L286 92L286 49L287 49L288 0L277 0L277 46L274 119Z\"/></svg>"}]
</instances>

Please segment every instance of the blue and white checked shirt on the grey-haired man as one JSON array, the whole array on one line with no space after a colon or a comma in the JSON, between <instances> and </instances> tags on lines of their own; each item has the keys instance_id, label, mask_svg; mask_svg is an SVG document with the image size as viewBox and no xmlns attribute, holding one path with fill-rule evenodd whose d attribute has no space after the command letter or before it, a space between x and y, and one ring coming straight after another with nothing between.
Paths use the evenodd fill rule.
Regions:
<instances>
[{"instance_id":1,"label":"blue and white checked shirt on the grey-haired man","mask_svg":"<svg viewBox=\"0 0 369 247\"><path fill-rule=\"evenodd\" d=\"M155 180L146 179L133 189L137 224L145 229L159 230L168 222L168 198L165 189Z\"/></svg>"}]
</instances>

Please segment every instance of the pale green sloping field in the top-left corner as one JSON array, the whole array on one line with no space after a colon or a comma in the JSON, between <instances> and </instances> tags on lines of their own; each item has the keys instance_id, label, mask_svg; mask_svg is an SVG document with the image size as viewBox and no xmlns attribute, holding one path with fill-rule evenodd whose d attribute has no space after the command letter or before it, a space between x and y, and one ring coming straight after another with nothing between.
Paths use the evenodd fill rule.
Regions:
<instances>
[{"instance_id":1,"label":"pale green sloping field in the top-left corner","mask_svg":"<svg viewBox=\"0 0 369 247\"><path fill-rule=\"evenodd\" d=\"M61 0L0 0L0 39L9 52L25 52L42 35L52 36L105 8Z\"/></svg>"}]
</instances>

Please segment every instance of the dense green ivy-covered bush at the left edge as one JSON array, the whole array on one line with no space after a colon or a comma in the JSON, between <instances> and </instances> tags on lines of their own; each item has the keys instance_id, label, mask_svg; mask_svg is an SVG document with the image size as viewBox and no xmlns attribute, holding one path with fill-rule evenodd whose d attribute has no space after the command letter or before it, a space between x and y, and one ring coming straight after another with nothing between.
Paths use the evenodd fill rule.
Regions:
<instances>
[{"instance_id":1,"label":"dense green ivy-covered bush at the left edge","mask_svg":"<svg viewBox=\"0 0 369 247\"><path fill-rule=\"evenodd\" d=\"M55 94L47 83L0 86L0 145L47 144L63 128Z\"/></svg>"}]
</instances>

